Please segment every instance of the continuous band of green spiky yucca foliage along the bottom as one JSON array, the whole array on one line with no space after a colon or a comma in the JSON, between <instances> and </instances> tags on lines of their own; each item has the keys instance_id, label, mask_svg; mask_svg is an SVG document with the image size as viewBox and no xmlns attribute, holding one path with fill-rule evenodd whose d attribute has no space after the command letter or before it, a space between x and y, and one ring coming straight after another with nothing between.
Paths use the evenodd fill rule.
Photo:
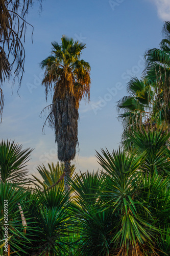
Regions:
<instances>
[{"instance_id":1,"label":"continuous band of green spiky yucca foliage along the bottom","mask_svg":"<svg viewBox=\"0 0 170 256\"><path fill-rule=\"evenodd\" d=\"M68 192L63 185L42 191L16 181L1 182L2 255L5 198L13 255L168 255L169 134L143 129L129 136L131 151L97 152L103 170L76 174L69 179ZM59 163L48 167L50 171L39 166L44 182L53 181L56 170L63 172Z\"/></svg>"}]
</instances>

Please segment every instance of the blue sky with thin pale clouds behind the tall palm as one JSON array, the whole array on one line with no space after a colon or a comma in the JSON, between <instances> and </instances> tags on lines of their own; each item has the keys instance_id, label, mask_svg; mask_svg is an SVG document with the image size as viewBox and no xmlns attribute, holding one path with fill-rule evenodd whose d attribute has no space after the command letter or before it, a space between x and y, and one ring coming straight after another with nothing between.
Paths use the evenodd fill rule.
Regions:
<instances>
[{"instance_id":1,"label":"blue sky with thin pale clouds behind the tall palm","mask_svg":"<svg viewBox=\"0 0 170 256\"><path fill-rule=\"evenodd\" d=\"M159 46L164 20L170 20L169 0L49 0L30 10L27 21L25 75L19 96L17 83L3 84L5 106L1 124L2 139L15 140L34 151L29 161L30 173L36 166L57 162L54 131L42 134L42 109L45 101L41 86L43 71L39 62L50 55L51 42L61 42L62 35L86 43L82 58L91 66L90 103L81 102L78 138L80 152L75 163L77 172L96 170L95 150L119 145L122 125L117 120L116 102L126 95L130 76L140 78L145 50Z\"/></svg>"}]
</instances>

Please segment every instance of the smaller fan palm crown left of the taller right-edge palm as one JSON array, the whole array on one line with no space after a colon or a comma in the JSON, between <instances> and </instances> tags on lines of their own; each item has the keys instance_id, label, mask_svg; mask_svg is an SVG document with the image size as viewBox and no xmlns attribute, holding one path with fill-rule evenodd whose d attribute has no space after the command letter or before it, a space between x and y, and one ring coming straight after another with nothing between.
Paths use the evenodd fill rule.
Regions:
<instances>
[{"instance_id":1,"label":"smaller fan palm crown left of the taller right-edge palm","mask_svg":"<svg viewBox=\"0 0 170 256\"><path fill-rule=\"evenodd\" d=\"M122 121L124 132L122 145L131 145L127 132L140 129L142 125L148 129L155 124L153 115L153 90L146 80L133 77L127 84L128 96L124 96L117 103L118 119ZM152 120L153 119L153 120Z\"/></svg>"}]
</instances>

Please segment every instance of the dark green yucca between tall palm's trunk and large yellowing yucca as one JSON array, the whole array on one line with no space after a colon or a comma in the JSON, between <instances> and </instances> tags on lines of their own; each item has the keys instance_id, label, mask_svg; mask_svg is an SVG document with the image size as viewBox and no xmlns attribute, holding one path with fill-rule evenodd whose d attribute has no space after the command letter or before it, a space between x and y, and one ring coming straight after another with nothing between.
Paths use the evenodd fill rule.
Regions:
<instances>
[{"instance_id":1,"label":"dark green yucca between tall palm's trunk and large yellowing yucca","mask_svg":"<svg viewBox=\"0 0 170 256\"><path fill-rule=\"evenodd\" d=\"M70 181L75 193L72 218L78 232L75 255L109 255L116 219L101 198L104 178L99 172L87 172Z\"/></svg>"}]
</instances>

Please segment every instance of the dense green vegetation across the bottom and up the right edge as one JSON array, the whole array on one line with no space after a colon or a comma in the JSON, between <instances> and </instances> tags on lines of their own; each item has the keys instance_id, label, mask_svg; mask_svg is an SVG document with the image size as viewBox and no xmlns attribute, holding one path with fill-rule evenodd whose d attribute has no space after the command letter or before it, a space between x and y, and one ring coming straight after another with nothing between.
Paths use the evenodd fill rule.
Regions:
<instances>
[{"instance_id":1,"label":"dense green vegetation across the bottom and up the right edge","mask_svg":"<svg viewBox=\"0 0 170 256\"><path fill-rule=\"evenodd\" d=\"M30 179L26 169L30 148L22 150L2 140L1 255L170 254L169 22L163 31L166 38L160 49L145 54L141 80L132 78L130 96L118 102L125 127L123 146L111 153L107 149L96 152L100 172L78 175L71 166L65 181L70 189L64 189L63 181L53 186L64 170L60 163L48 164L49 169L38 166L42 180ZM57 67L57 71L62 70ZM8 200L8 253L4 200Z\"/></svg>"}]
</instances>

